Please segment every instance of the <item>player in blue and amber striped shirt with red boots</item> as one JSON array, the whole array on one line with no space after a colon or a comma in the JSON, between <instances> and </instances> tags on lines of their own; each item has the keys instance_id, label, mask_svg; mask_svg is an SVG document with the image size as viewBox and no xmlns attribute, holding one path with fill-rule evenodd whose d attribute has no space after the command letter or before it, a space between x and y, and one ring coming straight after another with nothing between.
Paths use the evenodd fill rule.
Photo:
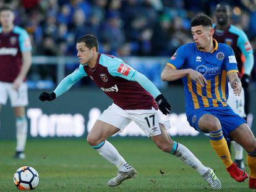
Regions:
<instances>
[{"instance_id":1,"label":"player in blue and amber striped shirt with red boots","mask_svg":"<svg viewBox=\"0 0 256 192\"><path fill-rule=\"evenodd\" d=\"M243 182L248 175L231 160L226 140L241 144L247 151L249 187L256 188L255 137L245 120L226 103L228 80L235 95L242 90L234 51L213 39L212 20L207 15L192 19L191 33L195 43L177 49L161 78L164 81L182 78L187 120L195 130L210 133L211 147L237 182Z\"/></svg>"}]
</instances>

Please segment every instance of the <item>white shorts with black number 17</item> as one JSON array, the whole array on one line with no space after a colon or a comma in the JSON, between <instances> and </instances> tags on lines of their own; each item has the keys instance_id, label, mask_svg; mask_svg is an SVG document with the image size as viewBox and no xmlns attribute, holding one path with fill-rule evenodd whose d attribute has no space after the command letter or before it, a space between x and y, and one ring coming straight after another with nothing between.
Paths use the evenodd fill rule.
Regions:
<instances>
[{"instance_id":1,"label":"white shorts with black number 17","mask_svg":"<svg viewBox=\"0 0 256 192\"><path fill-rule=\"evenodd\" d=\"M159 123L163 124L167 129L170 128L169 120L161 120L162 113L155 109L148 110L124 110L116 104L112 104L100 115L98 120L109 123L122 132L130 123L135 122L147 135L156 136L161 134Z\"/></svg>"}]
</instances>

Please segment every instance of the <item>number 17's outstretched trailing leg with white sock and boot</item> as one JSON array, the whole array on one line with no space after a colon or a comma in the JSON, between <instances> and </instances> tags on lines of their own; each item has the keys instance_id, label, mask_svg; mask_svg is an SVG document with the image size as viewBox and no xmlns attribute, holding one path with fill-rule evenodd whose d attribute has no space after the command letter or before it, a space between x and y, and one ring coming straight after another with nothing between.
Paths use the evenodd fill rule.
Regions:
<instances>
[{"instance_id":1,"label":"number 17's outstretched trailing leg with white sock and boot","mask_svg":"<svg viewBox=\"0 0 256 192\"><path fill-rule=\"evenodd\" d=\"M186 146L176 141L171 140L171 137L168 135L164 125L160 123L161 135L152 136L152 140L155 142L156 146L164 152L173 154L178 157L182 162L189 165L206 180L208 185L215 190L221 188L221 182L216 177L213 170L200 162L194 154L186 148ZM169 146L169 147L168 147Z\"/></svg>"}]
</instances>

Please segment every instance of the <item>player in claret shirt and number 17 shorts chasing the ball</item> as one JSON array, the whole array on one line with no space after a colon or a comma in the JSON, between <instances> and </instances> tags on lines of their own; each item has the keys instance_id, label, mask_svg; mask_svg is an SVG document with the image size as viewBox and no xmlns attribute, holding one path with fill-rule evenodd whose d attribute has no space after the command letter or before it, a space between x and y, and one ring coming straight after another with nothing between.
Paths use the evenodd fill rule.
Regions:
<instances>
[{"instance_id":1,"label":"player in claret shirt and number 17 shorts chasing the ball","mask_svg":"<svg viewBox=\"0 0 256 192\"><path fill-rule=\"evenodd\" d=\"M100 115L88 133L87 141L106 160L116 165L119 172L111 178L108 186L117 186L133 178L137 172L106 139L134 121L143 132L151 137L164 152L174 154L193 167L213 189L220 189L221 182L212 169L205 167L192 152L181 143L173 142L166 132L169 122L163 122L158 113L169 114L171 106L163 94L147 77L137 72L121 59L98 52L98 41L93 35L84 35L77 40L77 70L64 78L52 93L40 94L41 101L52 101L61 96L75 82L90 77L95 84L113 99L113 104ZM156 103L157 102L157 103Z\"/></svg>"}]
</instances>

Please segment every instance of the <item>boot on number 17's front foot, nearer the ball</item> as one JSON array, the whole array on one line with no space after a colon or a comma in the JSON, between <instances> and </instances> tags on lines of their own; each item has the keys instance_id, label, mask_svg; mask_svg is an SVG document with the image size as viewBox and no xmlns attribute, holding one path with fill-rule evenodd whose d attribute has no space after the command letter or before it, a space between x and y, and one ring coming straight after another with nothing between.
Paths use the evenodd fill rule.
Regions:
<instances>
[{"instance_id":1,"label":"boot on number 17's front foot, nearer the ball","mask_svg":"<svg viewBox=\"0 0 256 192\"><path fill-rule=\"evenodd\" d=\"M134 169L134 167L130 167L129 172L117 172L116 177L111 178L111 180L108 181L108 186L117 186L120 185L124 180L132 179L136 177L137 171Z\"/></svg>"}]
</instances>

